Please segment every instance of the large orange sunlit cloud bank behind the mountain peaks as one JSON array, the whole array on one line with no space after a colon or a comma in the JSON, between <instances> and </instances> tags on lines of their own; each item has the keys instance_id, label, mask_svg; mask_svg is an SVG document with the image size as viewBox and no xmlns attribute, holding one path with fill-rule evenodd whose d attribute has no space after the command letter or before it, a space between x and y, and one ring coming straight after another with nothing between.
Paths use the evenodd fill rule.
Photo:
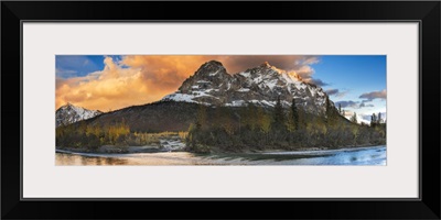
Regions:
<instances>
[{"instance_id":1,"label":"large orange sunlit cloud bank behind the mountain peaks","mask_svg":"<svg viewBox=\"0 0 441 220\"><path fill-rule=\"evenodd\" d=\"M158 101L174 92L205 62L216 59L229 74L269 62L310 80L315 56L291 55L128 55L104 59L103 70L87 76L56 78L56 108L71 102L93 110L117 110Z\"/></svg>"}]
</instances>

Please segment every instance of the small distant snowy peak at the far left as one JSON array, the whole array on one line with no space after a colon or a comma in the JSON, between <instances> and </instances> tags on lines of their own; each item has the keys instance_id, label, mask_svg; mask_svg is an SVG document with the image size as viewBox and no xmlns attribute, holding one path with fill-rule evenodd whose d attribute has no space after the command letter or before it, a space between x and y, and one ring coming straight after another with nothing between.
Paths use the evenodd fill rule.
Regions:
<instances>
[{"instance_id":1,"label":"small distant snowy peak at the far left","mask_svg":"<svg viewBox=\"0 0 441 220\"><path fill-rule=\"evenodd\" d=\"M66 103L60 107L55 112L56 127L67 125L77 121L83 121L101 114L101 111L88 110Z\"/></svg>"}]
</instances>

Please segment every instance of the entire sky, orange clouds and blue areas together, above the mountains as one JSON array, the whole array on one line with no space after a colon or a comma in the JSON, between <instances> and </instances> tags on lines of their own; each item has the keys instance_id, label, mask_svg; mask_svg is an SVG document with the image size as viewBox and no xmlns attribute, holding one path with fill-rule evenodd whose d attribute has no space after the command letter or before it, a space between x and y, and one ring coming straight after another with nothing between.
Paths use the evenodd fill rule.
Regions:
<instances>
[{"instance_id":1,"label":"entire sky, orange clouds and blue areas together, above the mountains","mask_svg":"<svg viewBox=\"0 0 441 220\"><path fill-rule=\"evenodd\" d=\"M212 59L230 74L263 62L293 70L327 91L347 118L356 112L368 122L372 113L386 112L384 55L57 55L56 108L71 102L107 111L157 101ZM100 77L84 77L93 73Z\"/></svg>"}]
</instances>

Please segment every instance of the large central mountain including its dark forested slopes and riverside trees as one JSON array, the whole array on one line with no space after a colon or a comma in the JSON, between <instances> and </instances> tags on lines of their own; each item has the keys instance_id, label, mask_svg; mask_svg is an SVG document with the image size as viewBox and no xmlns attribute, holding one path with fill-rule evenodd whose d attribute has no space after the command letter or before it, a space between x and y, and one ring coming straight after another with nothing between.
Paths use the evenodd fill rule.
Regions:
<instances>
[{"instance_id":1,"label":"large central mountain including its dark forested slopes and riverside trees","mask_svg":"<svg viewBox=\"0 0 441 220\"><path fill-rule=\"evenodd\" d=\"M109 131L114 138L106 138ZM187 132L186 150L194 152L386 143L385 124L374 128L348 121L322 88L295 73L265 63L230 75L212 61L158 102L58 127L57 145L131 145L138 133L165 131ZM94 141L84 141L90 135L96 135Z\"/></svg>"}]
</instances>

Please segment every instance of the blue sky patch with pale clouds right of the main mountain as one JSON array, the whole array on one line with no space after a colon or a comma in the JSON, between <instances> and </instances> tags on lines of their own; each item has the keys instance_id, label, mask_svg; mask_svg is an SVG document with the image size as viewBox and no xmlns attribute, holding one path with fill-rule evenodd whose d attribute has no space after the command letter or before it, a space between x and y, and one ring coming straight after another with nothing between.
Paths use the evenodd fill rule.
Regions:
<instances>
[{"instance_id":1,"label":"blue sky patch with pale clouds right of the main mountain","mask_svg":"<svg viewBox=\"0 0 441 220\"><path fill-rule=\"evenodd\" d=\"M326 84L322 86L324 90L338 90L338 94L331 96L331 100L336 105L342 103L342 106L345 106L352 103L344 109L355 111L361 116L386 112L386 99L374 98L369 100L368 98L359 98L364 94L386 89L386 56L320 56L320 62L313 64L312 68L314 69L313 77ZM363 107L363 102L365 102L365 107Z\"/></svg>"}]
</instances>

